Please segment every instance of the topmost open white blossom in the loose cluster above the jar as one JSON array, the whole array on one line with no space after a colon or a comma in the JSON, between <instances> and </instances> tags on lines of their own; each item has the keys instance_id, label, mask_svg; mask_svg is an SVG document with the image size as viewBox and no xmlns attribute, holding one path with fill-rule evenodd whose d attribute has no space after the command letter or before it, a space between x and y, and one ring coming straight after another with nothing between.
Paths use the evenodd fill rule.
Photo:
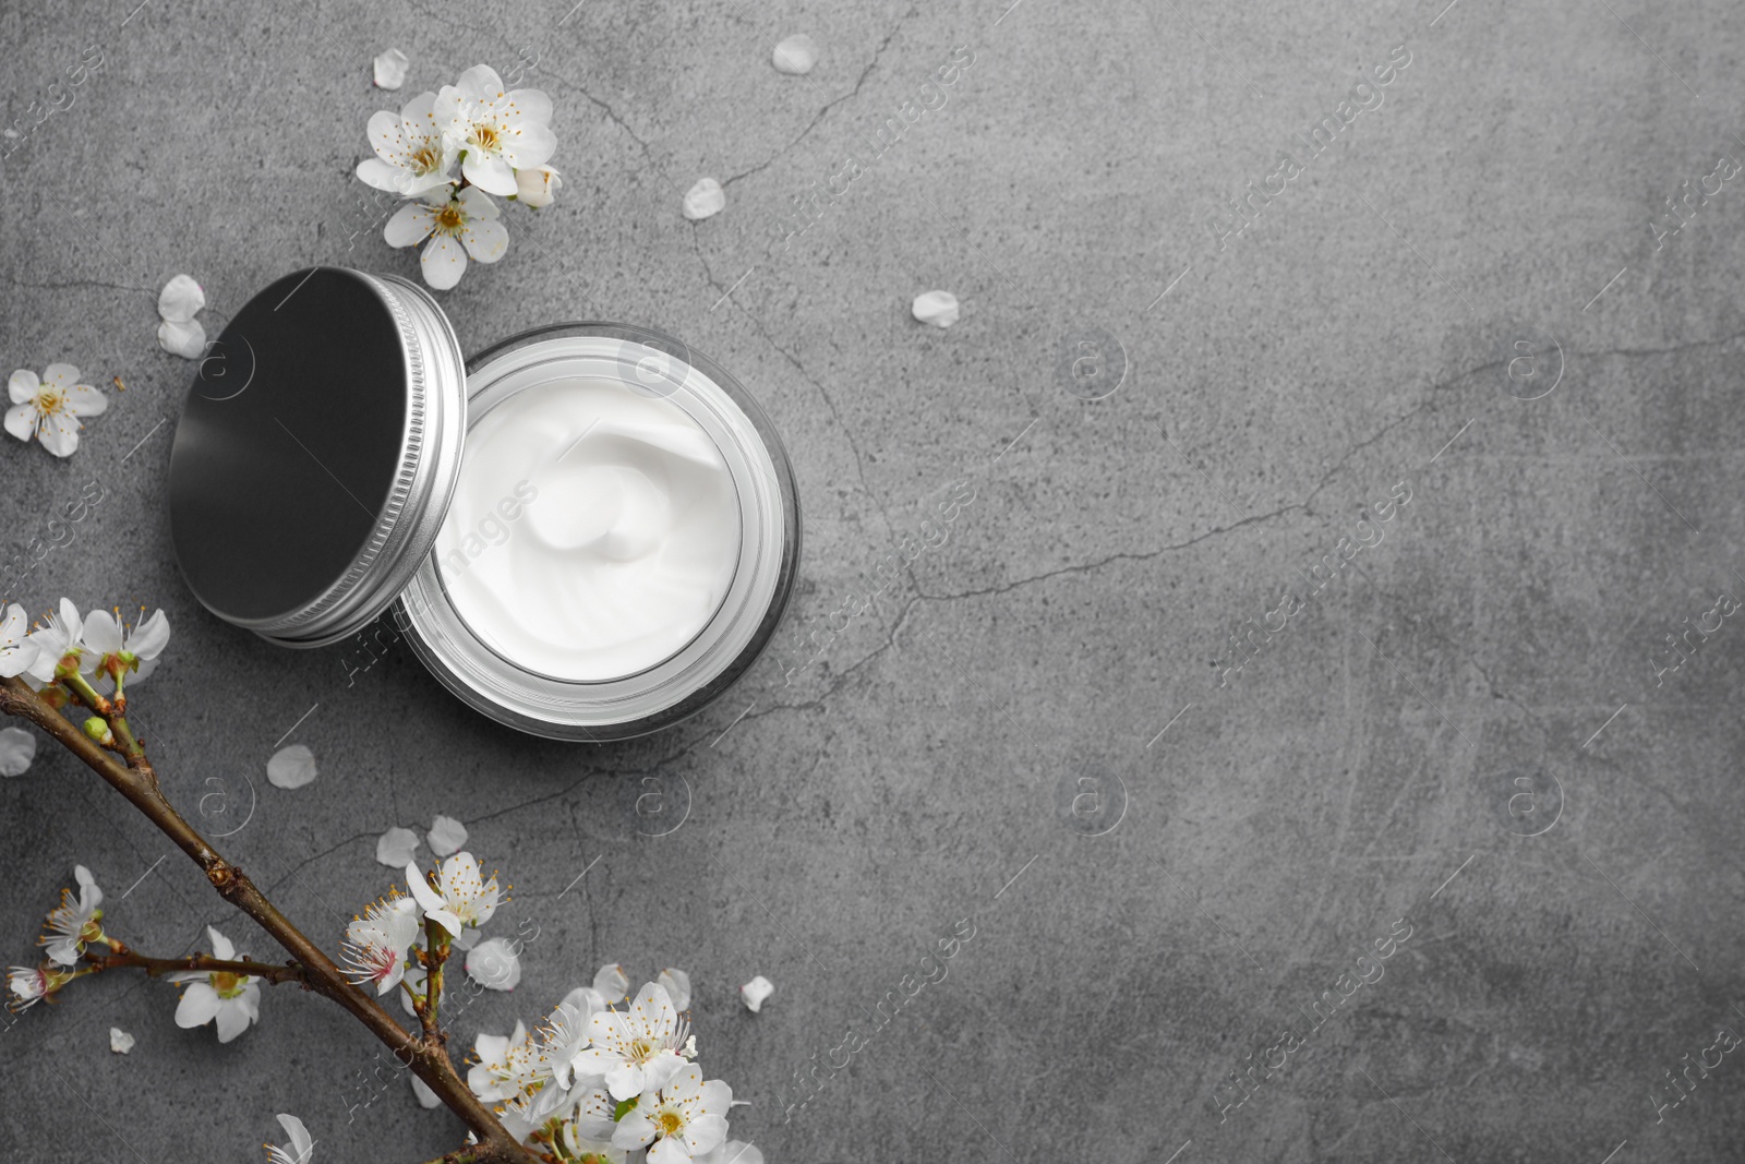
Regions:
<instances>
[{"instance_id":1,"label":"topmost open white blossom in the loose cluster above the jar","mask_svg":"<svg viewBox=\"0 0 1745 1164\"><path fill-rule=\"evenodd\" d=\"M503 91L503 79L475 65L436 94L436 119L459 145L461 173L487 194L517 192L515 171L543 166L557 152L551 98L539 89Z\"/></svg>"}]
</instances>

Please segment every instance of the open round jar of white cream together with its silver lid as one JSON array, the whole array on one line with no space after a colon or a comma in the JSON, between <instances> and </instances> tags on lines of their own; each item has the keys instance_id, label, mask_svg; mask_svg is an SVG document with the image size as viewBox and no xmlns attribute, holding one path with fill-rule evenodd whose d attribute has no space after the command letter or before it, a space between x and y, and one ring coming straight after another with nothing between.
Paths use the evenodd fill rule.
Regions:
<instances>
[{"instance_id":1,"label":"open round jar of white cream together with its silver lid","mask_svg":"<svg viewBox=\"0 0 1745 1164\"><path fill-rule=\"evenodd\" d=\"M710 703L799 565L787 454L714 361L607 323L462 361L424 288L342 267L284 276L213 342L169 525L218 618L318 647L393 607L462 702L560 740Z\"/></svg>"}]
</instances>

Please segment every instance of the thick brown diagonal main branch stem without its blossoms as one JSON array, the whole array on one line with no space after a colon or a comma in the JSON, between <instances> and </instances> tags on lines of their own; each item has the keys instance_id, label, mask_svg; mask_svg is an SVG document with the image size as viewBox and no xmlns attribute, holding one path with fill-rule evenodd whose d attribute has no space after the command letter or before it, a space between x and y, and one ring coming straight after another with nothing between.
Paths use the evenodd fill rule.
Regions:
<instances>
[{"instance_id":1,"label":"thick brown diagonal main branch stem without its blossoms","mask_svg":"<svg viewBox=\"0 0 1745 1164\"><path fill-rule=\"evenodd\" d=\"M490 1108L466 1085L448 1059L440 1033L436 1037L429 1033L414 1037L401 1030L400 1023L375 998L352 986L333 960L255 888L241 867L220 857L206 838L171 806L159 785L157 770L152 768L145 749L127 729L126 719L89 684L84 688L77 691L77 698L103 717L112 740L99 743L87 731L75 728L61 716L54 702L31 691L23 679L0 679L0 712L37 724L103 777L206 873L206 880L211 881L220 897L253 918L291 955L295 963L302 967L300 981L307 989L337 1002L396 1056L401 1051L407 1052L412 1073L424 1080L436 1098L459 1115L478 1138L478 1145L469 1145L457 1159L466 1159L469 1164L532 1164L539 1161L536 1154L517 1143ZM120 752L126 763L117 761L105 747ZM250 972L253 974L253 970Z\"/></svg>"}]
</instances>

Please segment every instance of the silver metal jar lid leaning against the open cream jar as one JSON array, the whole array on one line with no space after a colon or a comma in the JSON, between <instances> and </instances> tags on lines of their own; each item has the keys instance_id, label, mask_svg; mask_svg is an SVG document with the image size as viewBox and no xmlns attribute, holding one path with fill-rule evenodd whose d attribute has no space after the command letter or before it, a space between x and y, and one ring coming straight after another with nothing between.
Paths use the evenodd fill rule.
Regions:
<instances>
[{"instance_id":1,"label":"silver metal jar lid leaning against the open cream jar","mask_svg":"<svg viewBox=\"0 0 1745 1164\"><path fill-rule=\"evenodd\" d=\"M201 359L169 454L169 532L201 604L283 646L368 627L441 527L466 363L396 276L295 270Z\"/></svg>"}]
</instances>

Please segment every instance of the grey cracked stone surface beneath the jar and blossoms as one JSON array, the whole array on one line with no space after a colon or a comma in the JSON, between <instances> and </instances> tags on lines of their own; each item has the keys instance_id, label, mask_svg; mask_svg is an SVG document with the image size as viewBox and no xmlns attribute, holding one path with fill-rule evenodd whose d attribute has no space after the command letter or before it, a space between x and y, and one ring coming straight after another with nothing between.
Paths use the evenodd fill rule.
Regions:
<instances>
[{"instance_id":1,"label":"grey cracked stone surface beneath the jar and blossoms","mask_svg":"<svg viewBox=\"0 0 1745 1164\"><path fill-rule=\"evenodd\" d=\"M794 31L810 77L770 63ZM752 1105L735 1134L773 1162L1738 1159L1736 1054L1656 1103L1745 1023L1745 632L1654 668L1745 586L1745 194L1693 195L1658 246L1649 223L1745 161L1745 9L119 0L9 5L0 42L7 124L73 96L0 141L0 351L127 384L72 461L0 448L5 551L66 543L12 597L169 613L136 702L166 789L330 951L394 876L384 829L466 822L515 885L492 928L536 937L457 1054L602 962L677 965L703 1063ZM1401 44L1382 105L1309 157L1293 134ZM368 84L389 45L401 94ZM775 239L956 45L946 105ZM346 647L237 632L171 560L194 365L155 346L157 288L194 274L216 333L300 265L412 274L358 204L363 126L480 59L530 61L565 187L508 208L506 258L445 297L462 344L674 332L759 394L803 492L782 649L799 667L817 632L815 661L787 681L766 658L656 738L520 736L405 646L347 682ZM1279 185L1279 150L1302 173L1220 246L1209 220ZM686 222L705 175L726 211ZM909 318L932 288L963 302L949 330ZM1127 361L1101 400L1061 372L1087 328ZM1555 379L1530 340L1509 379L1541 333L1562 379L1518 400ZM92 480L103 501L51 531ZM946 541L843 627L960 480ZM1359 536L1382 541L1309 597ZM1302 611L1269 616L1293 588ZM1220 686L1237 632L1256 646ZM288 731L319 763L295 792L263 778ZM637 798L679 815L686 789L646 836ZM9 962L75 862L143 949L218 923L274 955L72 757L44 745L0 805ZM944 981L836 1051L960 918ZM1314 1028L1321 991L1377 969ZM754 974L777 984L759 1016L735 993ZM276 1112L318 1161L459 1141L403 1078L359 1084L375 1047L318 998L272 989L220 1047L173 1024L171 986L113 979L0 1033L9 1155L258 1159ZM827 1084L784 1119L811 1063ZM1256 1063L1220 1117L1244 1094L1220 1078Z\"/></svg>"}]
</instances>

